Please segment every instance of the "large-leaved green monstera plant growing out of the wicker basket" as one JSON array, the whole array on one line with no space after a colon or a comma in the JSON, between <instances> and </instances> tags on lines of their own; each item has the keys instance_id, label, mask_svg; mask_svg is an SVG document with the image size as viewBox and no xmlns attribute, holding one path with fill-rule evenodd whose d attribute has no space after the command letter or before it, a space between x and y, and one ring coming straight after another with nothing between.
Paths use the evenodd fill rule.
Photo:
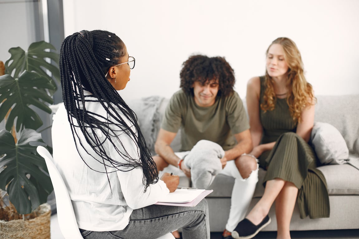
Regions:
<instances>
[{"instance_id":1,"label":"large-leaved green monstera plant growing out of the wicker basket","mask_svg":"<svg viewBox=\"0 0 359 239\"><path fill-rule=\"evenodd\" d=\"M46 145L36 131L43 125L36 111L51 114L55 80L60 81L59 54L44 41L32 43L27 51L10 48L9 53L5 75L0 76L0 122L5 121L0 131L0 188L18 214L31 214L53 191L45 160L36 151L37 145Z\"/></svg>"}]
</instances>

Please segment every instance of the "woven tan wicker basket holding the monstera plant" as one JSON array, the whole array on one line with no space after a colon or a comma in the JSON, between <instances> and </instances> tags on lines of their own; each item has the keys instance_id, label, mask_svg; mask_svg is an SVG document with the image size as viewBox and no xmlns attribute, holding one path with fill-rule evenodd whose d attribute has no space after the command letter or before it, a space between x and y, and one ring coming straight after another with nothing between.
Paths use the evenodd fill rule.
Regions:
<instances>
[{"instance_id":1,"label":"woven tan wicker basket holding the monstera plant","mask_svg":"<svg viewBox=\"0 0 359 239\"><path fill-rule=\"evenodd\" d=\"M50 204L41 204L37 209L39 216L30 220L0 220L1 239L50 239Z\"/></svg>"}]
</instances>

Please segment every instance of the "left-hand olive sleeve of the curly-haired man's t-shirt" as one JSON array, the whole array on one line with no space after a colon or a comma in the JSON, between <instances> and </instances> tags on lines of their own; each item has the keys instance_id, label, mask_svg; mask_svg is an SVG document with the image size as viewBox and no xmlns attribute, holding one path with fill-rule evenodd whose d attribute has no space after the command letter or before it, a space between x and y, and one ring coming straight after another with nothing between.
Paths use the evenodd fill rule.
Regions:
<instances>
[{"instance_id":1,"label":"left-hand olive sleeve of the curly-haired man's t-shirt","mask_svg":"<svg viewBox=\"0 0 359 239\"><path fill-rule=\"evenodd\" d=\"M161 128L169 132L177 133L182 123L182 116L186 105L187 99L183 92L178 91L173 94L167 104Z\"/></svg>"}]
</instances>

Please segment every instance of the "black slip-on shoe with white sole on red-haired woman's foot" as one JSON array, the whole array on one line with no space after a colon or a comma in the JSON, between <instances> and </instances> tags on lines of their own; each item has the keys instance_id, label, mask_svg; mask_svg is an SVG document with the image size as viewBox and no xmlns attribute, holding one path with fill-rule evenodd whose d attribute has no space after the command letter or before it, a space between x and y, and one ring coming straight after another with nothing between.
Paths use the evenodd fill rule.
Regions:
<instances>
[{"instance_id":1,"label":"black slip-on shoe with white sole on red-haired woman's foot","mask_svg":"<svg viewBox=\"0 0 359 239\"><path fill-rule=\"evenodd\" d=\"M265 228L268 224L270 224L270 217L267 215L261 221L260 224L254 225L250 220L244 218L242 221L238 223L236 229L232 231L232 237L234 239L250 239L258 234L260 230Z\"/></svg>"}]
</instances>

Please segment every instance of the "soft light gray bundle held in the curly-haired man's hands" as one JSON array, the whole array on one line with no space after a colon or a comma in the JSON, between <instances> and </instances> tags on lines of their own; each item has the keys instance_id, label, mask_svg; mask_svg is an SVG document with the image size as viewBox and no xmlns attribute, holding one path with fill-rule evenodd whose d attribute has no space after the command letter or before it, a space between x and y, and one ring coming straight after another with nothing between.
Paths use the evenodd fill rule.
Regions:
<instances>
[{"instance_id":1,"label":"soft light gray bundle held in the curly-haired man's hands","mask_svg":"<svg viewBox=\"0 0 359 239\"><path fill-rule=\"evenodd\" d=\"M220 158L224 157L223 148L209 140L200 140L187 154L183 163L191 169L192 185L207 189L215 176L222 171Z\"/></svg>"}]
</instances>

